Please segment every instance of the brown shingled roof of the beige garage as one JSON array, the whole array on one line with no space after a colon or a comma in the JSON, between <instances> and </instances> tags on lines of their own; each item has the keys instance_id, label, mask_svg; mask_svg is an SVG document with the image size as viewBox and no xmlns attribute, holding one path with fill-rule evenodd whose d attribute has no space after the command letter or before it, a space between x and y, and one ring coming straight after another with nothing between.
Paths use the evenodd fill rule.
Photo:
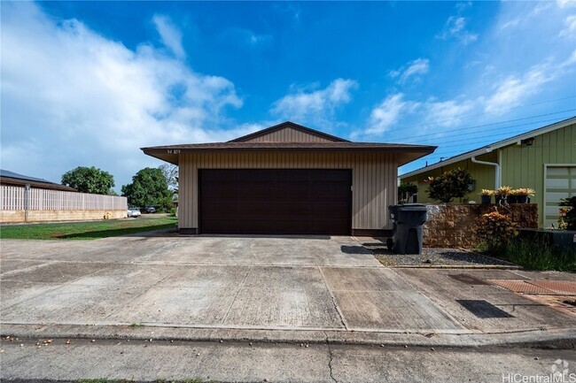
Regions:
<instances>
[{"instance_id":1,"label":"brown shingled roof of the beige garage","mask_svg":"<svg viewBox=\"0 0 576 383\"><path fill-rule=\"evenodd\" d=\"M303 131L307 134L315 136L322 135L323 139L329 137L330 141L322 142L261 142L261 141L248 141L257 136L270 134L276 130L292 128ZM238 141L240 140L240 141ZM292 122L285 122L284 124L272 126L268 129L261 130L253 134L248 134L230 142L214 142L214 143L190 143L182 145L166 145L155 146L151 148L142 148L145 154L160 158L172 164L178 164L178 154L180 153L198 153L206 151L222 151L222 150L324 150L324 151L342 151L342 150L382 150L391 153L402 153L399 158L401 165L415 160L419 157L424 157L432 153L436 149L435 146L427 145L406 145L399 143L378 143L378 142L349 142L339 137L331 136L330 134L323 134L322 132L309 129L305 126L300 126Z\"/></svg>"}]
</instances>

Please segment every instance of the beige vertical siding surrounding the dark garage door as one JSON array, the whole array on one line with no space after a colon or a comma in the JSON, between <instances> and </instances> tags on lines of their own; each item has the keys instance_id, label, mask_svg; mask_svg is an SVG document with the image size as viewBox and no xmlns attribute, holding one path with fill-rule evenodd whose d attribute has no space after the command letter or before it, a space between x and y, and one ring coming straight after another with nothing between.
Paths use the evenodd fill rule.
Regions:
<instances>
[{"instance_id":1,"label":"beige vertical siding surrounding the dark garage door","mask_svg":"<svg viewBox=\"0 0 576 383\"><path fill-rule=\"evenodd\" d=\"M392 154L229 152L180 155L179 226L198 227L198 169L352 169L352 228L390 229L387 206L396 201Z\"/></svg>"}]
</instances>

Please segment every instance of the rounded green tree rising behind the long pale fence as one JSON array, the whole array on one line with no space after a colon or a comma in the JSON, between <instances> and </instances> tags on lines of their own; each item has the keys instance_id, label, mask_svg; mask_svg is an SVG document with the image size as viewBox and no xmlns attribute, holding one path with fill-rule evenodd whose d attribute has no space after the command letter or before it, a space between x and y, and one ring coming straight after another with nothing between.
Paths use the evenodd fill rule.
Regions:
<instances>
[{"instance_id":1,"label":"rounded green tree rising behind the long pale fence","mask_svg":"<svg viewBox=\"0 0 576 383\"><path fill-rule=\"evenodd\" d=\"M62 185L75 188L82 193L97 195L112 195L114 193L114 177L109 172L94 166L78 166L62 175Z\"/></svg>"}]
</instances>

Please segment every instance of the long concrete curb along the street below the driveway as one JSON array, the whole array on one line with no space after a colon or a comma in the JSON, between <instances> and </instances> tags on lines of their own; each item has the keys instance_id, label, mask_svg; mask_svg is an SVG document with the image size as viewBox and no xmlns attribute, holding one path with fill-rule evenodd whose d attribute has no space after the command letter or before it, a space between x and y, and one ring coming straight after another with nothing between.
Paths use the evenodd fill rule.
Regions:
<instances>
[{"instance_id":1,"label":"long concrete curb along the street below the driveway","mask_svg":"<svg viewBox=\"0 0 576 383\"><path fill-rule=\"evenodd\" d=\"M77 326L3 324L0 336L141 341L221 341L382 347L576 349L576 327L528 329L511 333L370 332L337 330L258 330L170 326Z\"/></svg>"}]
</instances>

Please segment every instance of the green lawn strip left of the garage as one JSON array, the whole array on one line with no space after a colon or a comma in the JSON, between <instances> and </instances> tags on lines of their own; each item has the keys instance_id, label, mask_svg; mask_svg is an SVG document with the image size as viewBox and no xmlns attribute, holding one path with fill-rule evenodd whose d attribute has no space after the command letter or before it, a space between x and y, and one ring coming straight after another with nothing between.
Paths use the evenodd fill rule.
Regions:
<instances>
[{"instance_id":1,"label":"green lawn strip left of the garage","mask_svg":"<svg viewBox=\"0 0 576 383\"><path fill-rule=\"evenodd\" d=\"M20 240L97 240L98 238L149 232L175 227L177 218L127 218L66 224L0 227L0 238Z\"/></svg>"}]
</instances>

